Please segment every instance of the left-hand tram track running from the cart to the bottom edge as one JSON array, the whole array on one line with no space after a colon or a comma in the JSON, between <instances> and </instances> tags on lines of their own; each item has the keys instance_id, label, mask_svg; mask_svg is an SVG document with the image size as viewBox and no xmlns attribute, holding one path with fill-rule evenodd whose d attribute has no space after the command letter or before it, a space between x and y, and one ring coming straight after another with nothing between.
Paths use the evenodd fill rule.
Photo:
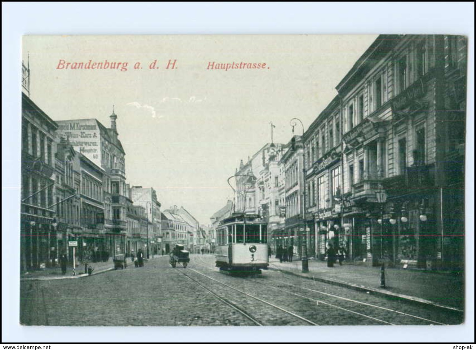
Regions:
<instances>
[{"instance_id":1,"label":"left-hand tram track running from the cart to the bottom edge","mask_svg":"<svg viewBox=\"0 0 476 350\"><path fill-rule=\"evenodd\" d=\"M233 291L235 291L235 292L241 293L241 294L243 294L245 297L252 298L253 300L258 301L258 302L261 304L261 307L262 307L263 305L266 305L266 307L271 307L271 308L273 308L274 310L279 310L280 312L283 312L283 313L285 313L285 314L288 315L288 316L292 316L293 318L298 319L299 321L301 321L301 323L302 323L302 322L305 322L306 324L311 324L311 325L318 326L317 323L315 323L315 322L313 322L313 321L311 321L311 320L308 320L308 319L306 319L305 317L302 317L302 316L296 314L295 312L288 311L288 310L286 310L286 309L284 309L284 308L282 308L282 307L280 307L280 306L278 306L278 305L276 305L276 304L269 303L269 302L267 302L267 301L265 301L265 300L263 300L263 299L261 299L261 298L258 298L258 297L255 296L255 295L252 295L252 294L247 293L247 292L245 292L245 291L243 291L243 290L240 290L240 289L238 289L238 288L235 288L235 287L233 287L233 286L231 286L231 285L229 285L229 284L226 284L226 283L223 283L223 282L221 282L221 281L218 281L217 279L215 279L215 278L213 278L213 277L210 277L210 276L208 276L208 275L206 275L206 274L202 274L201 272L199 272L199 271L197 271L197 270L195 270L195 269L193 269L193 268L188 268L187 270L188 270L188 271L192 271L192 272L194 272L194 273L196 273L196 274L198 274L198 275L201 275L202 277L205 277L205 278L207 278L208 280L214 281L215 283L217 283L217 284L219 284L219 285L221 285L221 286L227 287L227 288L229 288L229 289L231 289L231 290L233 290ZM196 284L198 284L198 285L200 285L202 288L206 289L209 293L211 293L212 295L214 295L215 297L217 297L221 302L227 303L228 306L233 307L235 310L237 310L238 312L240 312L241 314L243 314L245 317L247 317L248 319L252 320L255 324L257 324L257 325L262 325L262 326L263 326L263 325L276 325L276 324L265 324L265 322L258 321L258 319L257 319L255 316L252 316L251 313L248 312L248 311L246 311L243 307L238 306L237 303L231 302L231 301L229 300L229 298L225 298L225 297L223 297L223 296L221 296L221 295L218 295L218 293L215 293L215 292L211 291L208 287L205 287L202 283L198 282L197 279L195 279L195 278L189 276L187 273L185 273L185 271L182 271L182 270L176 270L176 271L177 271L178 273L180 273L180 274L185 275L185 276L188 277L190 280L194 281ZM245 300L246 300L246 299L245 299ZM249 302L249 300L248 300L248 302Z\"/></svg>"}]
</instances>

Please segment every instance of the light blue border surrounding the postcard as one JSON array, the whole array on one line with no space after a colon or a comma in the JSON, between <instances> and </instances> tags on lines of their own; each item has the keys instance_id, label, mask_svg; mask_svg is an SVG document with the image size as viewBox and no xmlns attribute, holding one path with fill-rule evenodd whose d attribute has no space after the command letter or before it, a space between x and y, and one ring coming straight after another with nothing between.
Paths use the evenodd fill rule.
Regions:
<instances>
[{"instance_id":1,"label":"light blue border surrounding the postcard","mask_svg":"<svg viewBox=\"0 0 476 350\"><path fill-rule=\"evenodd\" d=\"M466 324L441 327L22 327L20 43L25 34L462 34L469 37ZM3 342L474 341L473 3L2 3ZM54 98L54 96L51 96ZM316 111L318 113L319 111ZM174 297L178 297L175 295Z\"/></svg>"}]
</instances>

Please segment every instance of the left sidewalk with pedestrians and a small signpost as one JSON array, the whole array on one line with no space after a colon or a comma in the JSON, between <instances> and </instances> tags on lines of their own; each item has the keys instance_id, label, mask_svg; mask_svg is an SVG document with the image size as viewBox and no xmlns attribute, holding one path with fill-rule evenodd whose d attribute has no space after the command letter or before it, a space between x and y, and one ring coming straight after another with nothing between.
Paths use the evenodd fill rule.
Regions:
<instances>
[{"instance_id":1,"label":"left sidewalk with pedestrians and a small signpost","mask_svg":"<svg viewBox=\"0 0 476 350\"><path fill-rule=\"evenodd\" d=\"M159 258L161 255L155 255L154 259ZM152 256L150 256L149 260L152 260ZM145 259L147 263L147 259ZM93 268L93 274L100 274L103 272L114 270L114 263L112 258L109 258L106 262L98 262L92 263L88 262L88 267L91 266ZM76 275L73 275L73 266L69 264L66 269L66 274L61 273L61 267L57 264L56 267L44 268L41 270L29 271L27 273L22 273L20 275L21 280L58 280L58 279L69 279L69 278L80 278L88 276L88 273L85 272L85 264L79 263L76 266ZM134 268L134 263L130 260L130 257L127 258L127 267L126 268Z\"/></svg>"}]
</instances>

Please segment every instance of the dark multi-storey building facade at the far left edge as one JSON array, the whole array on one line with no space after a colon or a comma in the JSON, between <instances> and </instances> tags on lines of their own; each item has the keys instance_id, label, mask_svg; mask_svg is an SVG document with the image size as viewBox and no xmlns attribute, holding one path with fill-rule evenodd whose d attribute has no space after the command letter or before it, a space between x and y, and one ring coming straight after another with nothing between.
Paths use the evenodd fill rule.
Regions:
<instances>
[{"instance_id":1,"label":"dark multi-storey building facade at the far left edge","mask_svg":"<svg viewBox=\"0 0 476 350\"><path fill-rule=\"evenodd\" d=\"M56 258L55 123L21 94L21 269L50 265ZM52 249L54 248L54 249Z\"/></svg>"}]
</instances>

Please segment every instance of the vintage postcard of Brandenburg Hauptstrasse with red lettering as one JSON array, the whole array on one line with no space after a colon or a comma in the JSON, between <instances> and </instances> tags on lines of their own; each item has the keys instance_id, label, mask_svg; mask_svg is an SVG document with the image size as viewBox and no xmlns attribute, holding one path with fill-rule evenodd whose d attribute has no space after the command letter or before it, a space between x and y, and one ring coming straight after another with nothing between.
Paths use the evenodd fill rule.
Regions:
<instances>
[{"instance_id":1,"label":"vintage postcard of Brandenburg Hauptstrasse with red lettering","mask_svg":"<svg viewBox=\"0 0 476 350\"><path fill-rule=\"evenodd\" d=\"M465 322L467 46L24 36L20 323Z\"/></svg>"}]
</instances>

